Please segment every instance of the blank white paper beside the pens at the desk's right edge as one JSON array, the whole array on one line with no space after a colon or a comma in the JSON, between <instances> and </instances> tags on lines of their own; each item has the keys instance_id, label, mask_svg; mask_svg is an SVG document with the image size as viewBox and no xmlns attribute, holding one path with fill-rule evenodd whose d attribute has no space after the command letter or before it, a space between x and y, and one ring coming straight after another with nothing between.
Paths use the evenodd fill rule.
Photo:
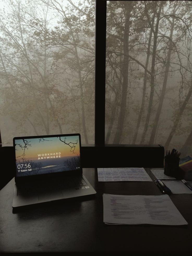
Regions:
<instances>
[{"instance_id":1,"label":"blank white paper beside the pens at the desk's right edge","mask_svg":"<svg viewBox=\"0 0 192 256\"><path fill-rule=\"evenodd\" d=\"M163 181L165 186L167 186L172 194L192 194L190 190L182 181L180 180L170 180Z\"/></svg>"}]
</instances>

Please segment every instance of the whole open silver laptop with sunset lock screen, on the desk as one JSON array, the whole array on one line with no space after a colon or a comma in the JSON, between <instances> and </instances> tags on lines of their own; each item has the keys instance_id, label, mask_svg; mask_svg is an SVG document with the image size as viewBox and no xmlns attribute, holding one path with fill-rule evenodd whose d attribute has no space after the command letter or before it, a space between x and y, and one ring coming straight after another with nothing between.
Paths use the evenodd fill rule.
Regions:
<instances>
[{"instance_id":1,"label":"whole open silver laptop with sunset lock screen, on the desk","mask_svg":"<svg viewBox=\"0 0 192 256\"><path fill-rule=\"evenodd\" d=\"M81 166L79 133L13 138L12 207L95 194Z\"/></svg>"}]
</instances>

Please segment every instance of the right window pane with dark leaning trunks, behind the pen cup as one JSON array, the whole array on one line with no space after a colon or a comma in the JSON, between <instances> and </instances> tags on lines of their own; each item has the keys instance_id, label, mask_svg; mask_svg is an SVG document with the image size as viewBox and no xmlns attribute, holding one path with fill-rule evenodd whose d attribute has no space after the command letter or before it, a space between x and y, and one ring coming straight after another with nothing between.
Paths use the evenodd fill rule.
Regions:
<instances>
[{"instance_id":1,"label":"right window pane with dark leaning trunks, behind the pen cup","mask_svg":"<svg viewBox=\"0 0 192 256\"><path fill-rule=\"evenodd\" d=\"M107 1L105 143L192 154L191 1Z\"/></svg>"}]
</instances>

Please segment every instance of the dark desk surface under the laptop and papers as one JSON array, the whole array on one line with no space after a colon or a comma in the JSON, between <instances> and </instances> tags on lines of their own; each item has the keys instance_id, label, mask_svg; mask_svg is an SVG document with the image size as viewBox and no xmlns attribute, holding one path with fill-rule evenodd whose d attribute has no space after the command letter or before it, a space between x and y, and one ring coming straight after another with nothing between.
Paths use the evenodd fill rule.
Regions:
<instances>
[{"instance_id":1,"label":"dark desk surface under the laptop and papers","mask_svg":"<svg viewBox=\"0 0 192 256\"><path fill-rule=\"evenodd\" d=\"M150 169L147 173L154 179ZM0 252L130 252L191 255L192 194L171 200L187 226L106 225L103 193L161 195L154 182L98 182L97 169L83 169L97 191L12 211L14 179L0 191Z\"/></svg>"}]
</instances>

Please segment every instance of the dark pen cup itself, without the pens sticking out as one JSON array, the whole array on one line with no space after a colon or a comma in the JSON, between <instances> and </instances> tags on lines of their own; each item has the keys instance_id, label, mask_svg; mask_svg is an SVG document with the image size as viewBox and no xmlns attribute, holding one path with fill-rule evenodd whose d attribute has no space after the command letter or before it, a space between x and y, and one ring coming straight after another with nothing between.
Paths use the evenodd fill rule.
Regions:
<instances>
[{"instance_id":1,"label":"dark pen cup itself, without the pens sticking out","mask_svg":"<svg viewBox=\"0 0 192 256\"><path fill-rule=\"evenodd\" d=\"M165 156L164 174L176 178L177 180L183 179L183 173L179 168L179 157Z\"/></svg>"}]
</instances>

